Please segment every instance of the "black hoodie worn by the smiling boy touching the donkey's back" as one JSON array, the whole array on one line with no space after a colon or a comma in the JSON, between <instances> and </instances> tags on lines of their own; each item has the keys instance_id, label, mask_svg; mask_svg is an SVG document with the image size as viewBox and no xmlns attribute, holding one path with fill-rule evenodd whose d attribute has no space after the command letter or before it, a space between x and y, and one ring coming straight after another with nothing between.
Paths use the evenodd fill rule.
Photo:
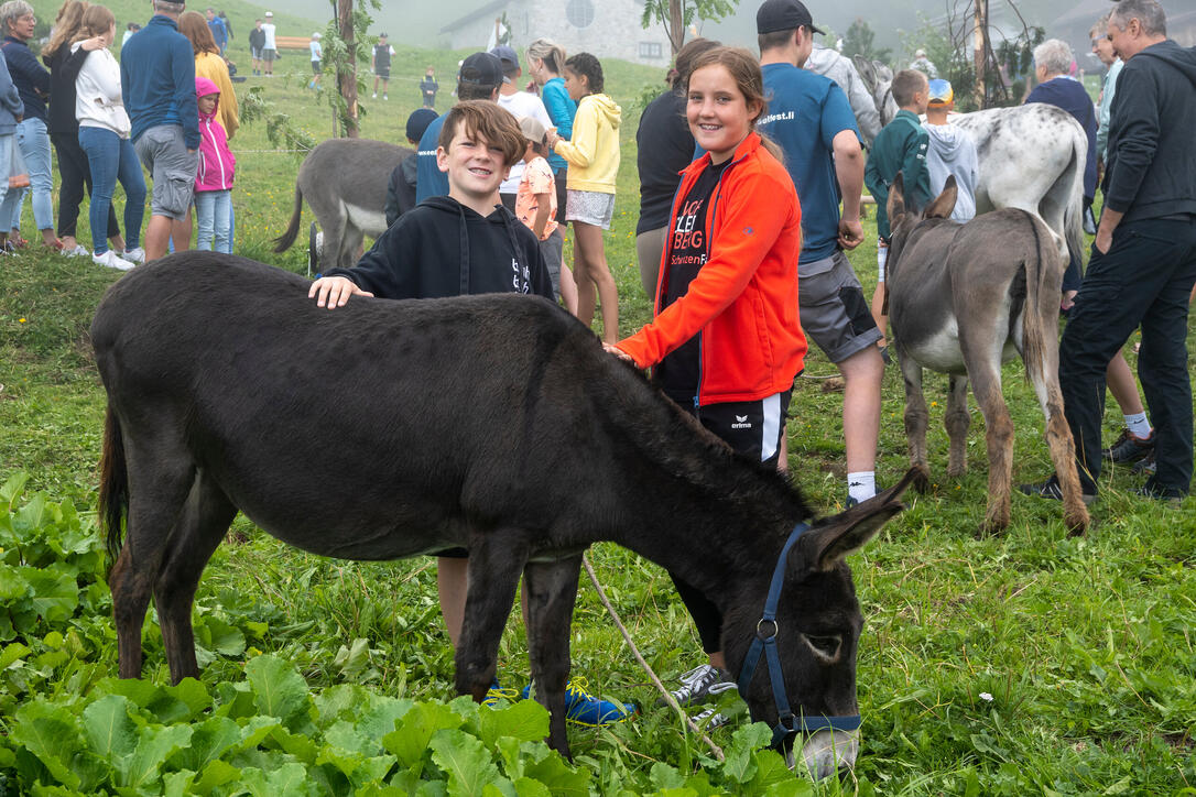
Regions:
<instances>
[{"instance_id":1,"label":"black hoodie worn by the smiling boy touching the donkey's back","mask_svg":"<svg viewBox=\"0 0 1196 797\"><path fill-rule=\"evenodd\" d=\"M324 276L348 277L379 299L525 293L553 300L535 233L501 204L481 216L447 196L399 216L356 266Z\"/></svg>"}]
</instances>

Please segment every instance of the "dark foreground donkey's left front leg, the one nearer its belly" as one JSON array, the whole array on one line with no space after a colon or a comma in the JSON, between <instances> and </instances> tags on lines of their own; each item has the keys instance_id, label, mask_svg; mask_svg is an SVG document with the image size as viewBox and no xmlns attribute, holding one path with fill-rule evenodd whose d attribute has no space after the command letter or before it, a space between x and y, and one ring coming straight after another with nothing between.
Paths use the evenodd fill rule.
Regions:
<instances>
[{"instance_id":1,"label":"dark foreground donkey's left front leg, the one nearer its belly","mask_svg":"<svg viewBox=\"0 0 1196 797\"><path fill-rule=\"evenodd\" d=\"M494 680L499 642L526 562L521 533L492 531L470 539L469 589L456 666L457 692L472 695L477 703Z\"/></svg>"}]
</instances>

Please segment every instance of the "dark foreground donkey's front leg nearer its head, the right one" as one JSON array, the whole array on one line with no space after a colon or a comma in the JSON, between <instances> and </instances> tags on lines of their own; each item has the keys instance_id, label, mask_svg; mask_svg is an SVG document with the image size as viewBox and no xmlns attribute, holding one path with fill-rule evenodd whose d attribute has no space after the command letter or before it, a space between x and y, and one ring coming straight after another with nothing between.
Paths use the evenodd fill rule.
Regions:
<instances>
[{"instance_id":1,"label":"dark foreground donkey's front leg nearer its head, the right one","mask_svg":"<svg viewBox=\"0 0 1196 797\"><path fill-rule=\"evenodd\" d=\"M570 758L565 732L565 686L569 679L569 625L578 597L581 557L531 562L524 569L527 654L536 700L548 709L548 743Z\"/></svg>"}]
</instances>

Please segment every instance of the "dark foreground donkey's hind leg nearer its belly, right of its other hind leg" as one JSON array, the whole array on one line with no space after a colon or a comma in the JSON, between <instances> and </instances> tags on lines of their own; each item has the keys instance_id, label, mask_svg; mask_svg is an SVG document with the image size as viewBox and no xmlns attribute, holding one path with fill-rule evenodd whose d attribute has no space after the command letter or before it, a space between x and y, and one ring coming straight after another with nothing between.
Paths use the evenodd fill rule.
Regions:
<instances>
[{"instance_id":1,"label":"dark foreground donkey's hind leg nearer its belly, right of its other hind leg","mask_svg":"<svg viewBox=\"0 0 1196 797\"><path fill-rule=\"evenodd\" d=\"M183 513L175 525L166 562L154 584L158 624L161 626L170 680L199 678L195 637L191 632L191 602L200 576L220 545L237 508L209 476L199 471Z\"/></svg>"}]
</instances>

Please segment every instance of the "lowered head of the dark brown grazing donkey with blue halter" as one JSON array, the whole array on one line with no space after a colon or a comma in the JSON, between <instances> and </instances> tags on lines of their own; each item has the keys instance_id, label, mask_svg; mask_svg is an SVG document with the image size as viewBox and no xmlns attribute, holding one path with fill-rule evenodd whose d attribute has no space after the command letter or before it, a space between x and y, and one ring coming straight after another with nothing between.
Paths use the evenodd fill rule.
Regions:
<instances>
[{"instance_id":1,"label":"lowered head of the dark brown grazing donkey with blue halter","mask_svg":"<svg viewBox=\"0 0 1196 797\"><path fill-rule=\"evenodd\" d=\"M864 618L855 597L852 570L844 558L871 540L890 517L904 509L898 498L913 472L896 486L858 507L829 517L800 534L777 565L783 574L776 619L763 620L761 597L773 577L738 601L725 617L722 640L728 666L740 681L751 717L774 729L791 766L800 750L810 772L823 778L855 764L859 752L859 707L855 699L855 656ZM780 678L764 656L753 666L750 646L775 627ZM748 670L745 670L748 660ZM744 681L746 680L746 688ZM779 694L788 705L777 704ZM786 711L787 710L787 711ZM783 715L795 718L797 732L785 734ZM829 729L829 722L848 729ZM850 721L855 721L854 724ZM822 725L822 729L819 729Z\"/></svg>"}]
</instances>

